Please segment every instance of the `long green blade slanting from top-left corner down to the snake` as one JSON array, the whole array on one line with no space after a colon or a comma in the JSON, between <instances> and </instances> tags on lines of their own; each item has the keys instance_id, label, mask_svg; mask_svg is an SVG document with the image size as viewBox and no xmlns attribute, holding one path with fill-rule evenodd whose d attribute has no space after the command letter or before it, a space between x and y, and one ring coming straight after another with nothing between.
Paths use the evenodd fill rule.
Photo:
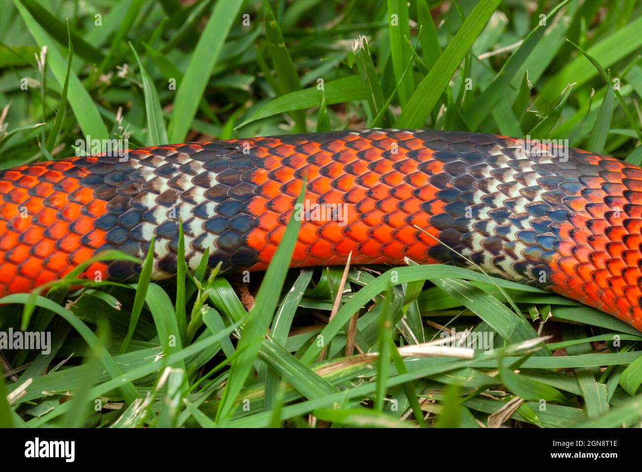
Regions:
<instances>
[{"instance_id":1,"label":"long green blade slanting from top-left corner down to the snake","mask_svg":"<svg viewBox=\"0 0 642 472\"><path fill-rule=\"evenodd\" d=\"M20 12L22 19L27 24L33 39L42 48L42 46L49 45L48 49L48 63L51 66L56 80L60 85L64 85L65 77L67 76L67 63L60 55L60 52L53 44L49 35L42 29L42 27L33 19L31 14L24 8L21 0L13 0L15 7ZM105 127L105 123L100 118L100 114L96 109L94 101L85 90L82 82L78 76L73 73L69 74L69 105L74 112L74 116L78 119L78 125L85 135L89 135L96 139L107 139L109 133Z\"/></svg>"}]
</instances>

